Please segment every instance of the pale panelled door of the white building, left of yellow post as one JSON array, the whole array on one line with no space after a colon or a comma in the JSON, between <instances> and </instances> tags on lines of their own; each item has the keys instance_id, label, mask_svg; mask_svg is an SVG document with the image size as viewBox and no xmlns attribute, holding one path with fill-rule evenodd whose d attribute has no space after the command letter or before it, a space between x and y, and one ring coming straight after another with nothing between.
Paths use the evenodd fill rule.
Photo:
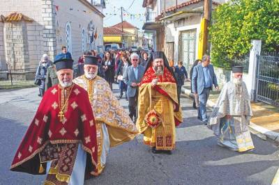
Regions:
<instances>
[{"instance_id":1,"label":"pale panelled door of the white building, left of yellow post","mask_svg":"<svg viewBox=\"0 0 279 185\"><path fill-rule=\"evenodd\" d=\"M181 31L179 34L179 61L183 61L187 72L190 72L196 56L197 29Z\"/></svg>"}]
</instances>

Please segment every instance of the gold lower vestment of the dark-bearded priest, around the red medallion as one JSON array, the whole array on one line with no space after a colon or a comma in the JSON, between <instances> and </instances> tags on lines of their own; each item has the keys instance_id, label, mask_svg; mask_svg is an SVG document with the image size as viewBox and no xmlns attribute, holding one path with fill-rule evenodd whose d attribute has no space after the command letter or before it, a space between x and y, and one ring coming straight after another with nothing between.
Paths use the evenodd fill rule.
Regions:
<instances>
[{"instance_id":1,"label":"gold lower vestment of the dark-bearded priest, around the red medallion","mask_svg":"<svg viewBox=\"0 0 279 185\"><path fill-rule=\"evenodd\" d=\"M151 83L144 83L139 89L139 112L137 129L144 134L144 144L156 150L174 150L175 147L175 120L182 122L181 108L174 112L174 103L178 103L175 83L158 83L169 97L160 94L151 88ZM163 118L163 123L157 128L151 129L144 118L149 111L155 109Z\"/></svg>"}]
</instances>

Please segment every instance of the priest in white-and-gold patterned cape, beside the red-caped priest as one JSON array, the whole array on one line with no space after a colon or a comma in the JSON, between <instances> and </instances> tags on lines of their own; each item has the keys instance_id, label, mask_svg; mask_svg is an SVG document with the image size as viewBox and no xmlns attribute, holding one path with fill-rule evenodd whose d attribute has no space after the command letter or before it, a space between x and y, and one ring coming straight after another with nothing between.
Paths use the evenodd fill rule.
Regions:
<instances>
[{"instance_id":1,"label":"priest in white-and-gold patterned cape, beside the red-caped priest","mask_svg":"<svg viewBox=\"0 0 279 185\"><path fill-rule=\"evenodd\" d=\"M98 145L96 176L105 168L109 148L133 140L138 133L135 124L113 95L107 81L98 77L97 72L98 58L86 56L84 75L73 80L87 91L96 120Z\"/></svg>"}]
</instances>

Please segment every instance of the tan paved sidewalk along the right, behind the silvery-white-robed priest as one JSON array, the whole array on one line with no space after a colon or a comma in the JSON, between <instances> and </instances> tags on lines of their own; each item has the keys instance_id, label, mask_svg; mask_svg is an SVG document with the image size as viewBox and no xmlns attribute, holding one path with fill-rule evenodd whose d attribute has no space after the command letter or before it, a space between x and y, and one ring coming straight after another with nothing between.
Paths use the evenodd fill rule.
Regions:
<instances>
[{"instance_id":1,"label":"tan paved sidewalk along the right, behind the silvery-white-robed priest","mask_svg":"<svg viewBox=\"0 0 279 185\"><path fill-rule=\"evenodd\" d=\"M187 97L194 98L190 91L190 82L187 81L182 87L181 93ZM215 106L220 90L213 90L209 95L207 106ZM252 119L250 120L250 131L266 140L266 137L279 143L279 108L264 104L262 102L252 102Z\"/></svg>"}]
</instances>

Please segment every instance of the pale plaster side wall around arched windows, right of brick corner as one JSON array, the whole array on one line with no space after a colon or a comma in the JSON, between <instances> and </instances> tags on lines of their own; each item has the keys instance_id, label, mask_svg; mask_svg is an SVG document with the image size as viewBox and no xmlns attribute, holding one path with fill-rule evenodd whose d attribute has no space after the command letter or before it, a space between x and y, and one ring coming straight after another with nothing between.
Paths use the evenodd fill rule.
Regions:
<instances>
[{"instance_id":1,"label":"pale plaster side wall around arched windows, right of brick corner","mask_svg":"<svg viewBox=\"0 0 279 185\"><path fill-rule=\"evenodd\" d=\"M89 47L89 36L91 36L88 26L93 22L94 33L97 28L97 40L94 42L96 46L103 45L103 17L93 12L93 10L77 0L67 0L64 3L60 0L54 0L56 8L55 26L56 26L56 44L58 53L61 46L66 45L66 24L70 24L71 40L72 40L72 57L76 62L82 55L82 29L86 33L86 49Z\"/></svg>"}]
</instances>

